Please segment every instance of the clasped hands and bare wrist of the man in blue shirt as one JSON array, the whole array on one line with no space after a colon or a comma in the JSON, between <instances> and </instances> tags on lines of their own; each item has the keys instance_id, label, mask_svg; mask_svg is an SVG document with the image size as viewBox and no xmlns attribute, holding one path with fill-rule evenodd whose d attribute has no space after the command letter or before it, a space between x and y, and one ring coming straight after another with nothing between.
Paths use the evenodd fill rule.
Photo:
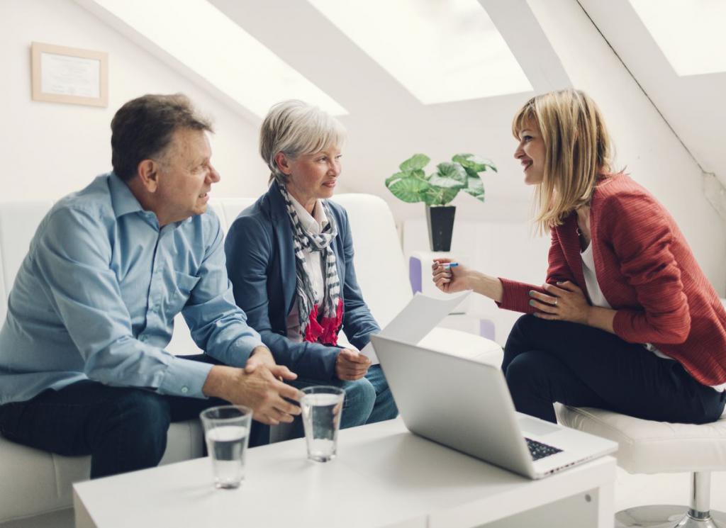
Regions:
<instances>
[{"instance_id":1,"label":"clasped hands and bare wrist of the man in blue shirt","mask_svg":"<svg viewBox=\"0 0 726 528\"><path fill-rule=\"evenodd\" d=\"M280 365L272 368L258 365L249 374L246 369L215 365L209 371L202 392L206 396L248 406L253 411L253 418L263 424L276 425L281 421L289 423L293 421L293 416L300 414L300 407L285 398L299 401L300 392L280 379L297 377L297 374Z\"/></svg>"}]
</instances>

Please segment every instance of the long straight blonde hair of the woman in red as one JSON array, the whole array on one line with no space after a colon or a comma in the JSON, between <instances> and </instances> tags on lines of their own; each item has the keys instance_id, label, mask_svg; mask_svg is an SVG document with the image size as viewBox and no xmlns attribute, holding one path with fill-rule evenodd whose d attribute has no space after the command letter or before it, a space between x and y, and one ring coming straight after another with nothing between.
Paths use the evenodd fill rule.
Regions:
<instances>
[{"instance_id":1,"label":"long straight blonde hair of the woman in red","mask_svg":"<svg viewBox=\"0 0 726 528\"><path fill-rule=\"evenodd\" d=\"M512 122L515 138L532 123L545 149L544 178L534 191L534 223L543 233L590 204L598 178L611 173L612 147L600 109L583 91L552 91L529 99Z\"/></svg>"}]
</instances>

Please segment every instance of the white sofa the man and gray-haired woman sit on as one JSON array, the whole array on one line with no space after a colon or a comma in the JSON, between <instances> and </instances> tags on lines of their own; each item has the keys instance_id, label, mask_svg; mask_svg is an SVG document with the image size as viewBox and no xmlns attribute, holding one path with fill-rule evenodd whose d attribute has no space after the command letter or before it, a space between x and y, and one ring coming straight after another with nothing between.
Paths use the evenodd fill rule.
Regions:
<instances>
[{"instance_id":1,"label":"white sofa the man and gray-haired woman sit on","mask_svg":"<svg viewBox=\"0 0 726 528\"><path fill-rule=\"evenodd\" d=\"M383 199L366 194L335 197L348 210L356 247L356 272L364 297L381 326L408 302L411 289L393 216ZM216 199L211 207L224 229L253 199ZM38 223L52 202L0 204L0 321L7 312L7 294L28 251ZM385 263L385 264L383 264ZM461 331L433 329L422 342L437 350L497 363L499 345ZM197 353L184 320L176 320L167 350ZM198 421L172 424L162 463L202 455ZM88 479L89 457L68 458L16 445L0 437L0 528L72 527L71 484Z\"/></svg>"}]
</instances>

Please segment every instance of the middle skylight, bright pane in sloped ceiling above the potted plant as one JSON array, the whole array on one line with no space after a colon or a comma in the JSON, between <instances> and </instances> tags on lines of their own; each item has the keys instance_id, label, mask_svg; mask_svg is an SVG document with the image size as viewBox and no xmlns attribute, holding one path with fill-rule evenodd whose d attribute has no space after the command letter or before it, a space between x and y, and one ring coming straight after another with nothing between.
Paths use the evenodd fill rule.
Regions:
<instances>
[{"instance_id":1,"label":"middle skylight, bright pane in sloped ceiling above the potted plant","mask_svg":"<svg viewBox=\"0 0 726 528\"><path fill-rule=\"evenodd\" d=\"M532 89L477 0L308 0L424 104Z\"/></svg>"}]
</instances>

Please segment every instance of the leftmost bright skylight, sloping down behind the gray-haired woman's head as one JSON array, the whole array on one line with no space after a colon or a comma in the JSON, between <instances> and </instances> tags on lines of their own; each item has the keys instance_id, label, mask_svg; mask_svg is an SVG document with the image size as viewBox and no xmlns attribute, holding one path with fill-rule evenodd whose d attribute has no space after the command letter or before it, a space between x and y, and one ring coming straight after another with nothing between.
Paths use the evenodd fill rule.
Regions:
<instances>
[{"instance_id":1,"label":"leftmost bright skylight, sloping down behind the gray-haired woman's head","mask_svg":"<svg viewBox=\"0 0 726 528\"><path fill-rule=\"evenodd\" d=\"M285 99L346 110L206 0L94 0L259 117Z\"/></svg>"}]
</instances>

